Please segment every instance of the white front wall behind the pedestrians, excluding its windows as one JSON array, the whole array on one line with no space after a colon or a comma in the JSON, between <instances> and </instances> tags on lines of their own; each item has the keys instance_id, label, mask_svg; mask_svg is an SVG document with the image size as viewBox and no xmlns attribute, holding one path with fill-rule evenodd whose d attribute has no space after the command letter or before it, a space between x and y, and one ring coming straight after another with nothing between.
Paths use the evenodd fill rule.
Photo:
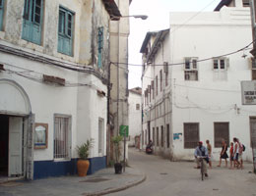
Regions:
<instances>
[{"instance_id":1,"label":"white front wall behind the pedestrians, excluding its windows","mask_svg":"<svg viewBox=\"0 0 256 196\"><path fill-rule=\"evenodd\" d=\"M206 59L243 48L252 41L249 8L223 8L221 12L202 13L179 27L195 13L170 14L170 57L184 62L185 57ZM246 51L248 55L248 50ZM228 56L227 79L214 79L213 61L200 62L199 80L185 81L184 66L171 67L173 133L183 133L183 123L199 123L200 140L209 139L214 147L214 123L229 123L229 140L238 137L250 146L249 117L256 107L241 105L240 81L251 80L248 59L243 52ZM237 111L237 108L239 111ZM174 159L193 159L194 149L184 149L184 134L173 141ZM221 149L214 148L219 159ZM252 160L250 148L244 153Z\"/></svg>"}]
</instances>

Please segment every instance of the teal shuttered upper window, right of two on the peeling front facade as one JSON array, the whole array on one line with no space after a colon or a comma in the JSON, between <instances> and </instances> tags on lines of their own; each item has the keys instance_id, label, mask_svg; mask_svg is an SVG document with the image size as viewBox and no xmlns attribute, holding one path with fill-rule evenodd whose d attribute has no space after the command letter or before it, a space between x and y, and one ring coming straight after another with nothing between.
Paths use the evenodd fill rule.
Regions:
<instances>
[{"instance_id":1,"label":"teal shuttered upper window, right of two on the peeling front facade","mask_svg":"<svg viewBox=\"0 0 256 196\"><path fill-rule=\"evenodd\" d=\"M74 13L59 8L58 52L73 56Z\"/></svg>"}]
</instances>

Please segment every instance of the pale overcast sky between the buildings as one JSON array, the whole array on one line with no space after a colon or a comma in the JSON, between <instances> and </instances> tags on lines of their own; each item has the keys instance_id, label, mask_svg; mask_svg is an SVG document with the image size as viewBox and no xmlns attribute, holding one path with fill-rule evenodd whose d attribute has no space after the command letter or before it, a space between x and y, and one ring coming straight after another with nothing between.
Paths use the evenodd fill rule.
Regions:
<instances>
[{"instance_id":1,"label":"pale overcast sky between the buildings","mask_svg":"<svg viewBox=\"0 0 256 196\"><path fill-rule=\"evenodd\" d=\"M129 64L141 65L140 49L148 31L169 28L170 12L212 12L221 0L132 0L131 15L147 15L145 21L130 18ZM141 87L141 67L129 66L129 89Z\"/></svg>"}]
</instances>

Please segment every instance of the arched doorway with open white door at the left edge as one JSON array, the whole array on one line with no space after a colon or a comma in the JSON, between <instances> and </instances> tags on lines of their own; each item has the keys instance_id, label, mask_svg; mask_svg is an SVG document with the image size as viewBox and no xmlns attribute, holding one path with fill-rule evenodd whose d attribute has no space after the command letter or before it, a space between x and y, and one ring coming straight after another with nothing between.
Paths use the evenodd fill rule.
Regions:
<instances>
[{"instance_id":1,"label":"arched doorway with open white door at the left edge","mask_svg":"<svg viewBox=\"0 0 256 196\"><path fill-rule=\"evenodd\" d=\"M32 178L32 107L16 81L0 79L0 175Z\"/></svg>"}]
</instances>

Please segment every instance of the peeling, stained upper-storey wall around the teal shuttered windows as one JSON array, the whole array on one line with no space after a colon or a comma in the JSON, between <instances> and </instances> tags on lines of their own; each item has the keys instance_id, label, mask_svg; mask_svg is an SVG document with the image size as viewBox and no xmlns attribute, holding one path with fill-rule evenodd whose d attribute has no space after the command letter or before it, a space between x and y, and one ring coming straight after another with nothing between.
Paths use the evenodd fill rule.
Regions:
<instances>
[{"instance_id":1,"label":"peeling, stained upper-storey wall around the teal shuttered windows","mask_svg":"<svg viewBox=\"0 0 256 196\"><path fill-rule=\"evenodd\" d=\"M101 0L44 0L41 45L22 39L24 2L23 0L7 1L5 18L8 20L4 25L4 32L0 33L1 39L45 55L91 65L96 68L97 27L103 26L102 68L106 68L109 56L109 15ZM59 6L68 8L75 13L73 57L63 55L57 51Z\"/></svg>"}]
</instances>

